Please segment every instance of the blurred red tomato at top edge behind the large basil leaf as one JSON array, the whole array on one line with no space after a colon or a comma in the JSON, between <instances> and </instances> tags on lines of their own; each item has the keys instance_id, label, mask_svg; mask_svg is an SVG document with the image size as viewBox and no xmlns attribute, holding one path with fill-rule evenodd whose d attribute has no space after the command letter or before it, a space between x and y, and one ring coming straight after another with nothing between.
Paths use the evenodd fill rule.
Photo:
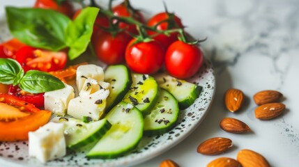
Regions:
<instances>
[{"instance_id":1,"label":"blurred red tomato at top edge behind the large basil leaf","mask_svg":"<svg viewBox=\"0 0 299 167\"><path fill-rule=\"evenodd\" d=\"M72 6L70 1L63 1L61 4L58 4L54 0L36 0L33 8L47 8L56 10L59 13L67 15L68 17L72 17L75 11L74 6Z\"/></svg>"}]
</instances>

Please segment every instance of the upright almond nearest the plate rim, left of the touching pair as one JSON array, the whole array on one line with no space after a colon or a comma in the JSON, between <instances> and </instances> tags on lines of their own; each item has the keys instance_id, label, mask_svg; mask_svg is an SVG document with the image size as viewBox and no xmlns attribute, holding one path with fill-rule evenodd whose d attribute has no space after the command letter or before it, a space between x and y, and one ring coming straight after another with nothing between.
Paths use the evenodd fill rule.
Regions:
<instances>
[{"instance_id":1,"label":"upright almond nearest the plate rim, left of the touching pair","mask_svg":"<svg viewBox=\"0 0 299 167\"><path fill-rule=\"evenodd\" d=\"M225 93L224 101L227 109L231 112L235 112L242 106L244 94L241 90L231 88Z\"/></svg>"}]
</instances>

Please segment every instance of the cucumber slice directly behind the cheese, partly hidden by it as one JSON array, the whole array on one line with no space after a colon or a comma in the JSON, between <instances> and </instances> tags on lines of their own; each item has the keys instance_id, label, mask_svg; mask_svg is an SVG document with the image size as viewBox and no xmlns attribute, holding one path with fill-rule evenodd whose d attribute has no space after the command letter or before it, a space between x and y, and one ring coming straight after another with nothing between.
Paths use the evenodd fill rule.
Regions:
<instances>
[{"instance_id":1,"label":"cucumber slice directly behind the cheese, partly hidden by it","mask_svg":"<svg viewBox=\"0 0 299 167\"><path fill-rule=\"evenodd\" d=\"M125 65L109 65L105 70L105 82L110 83L110 94L107 97L106 111L123 100L125 93L132 85L130 70Z\"/></svg>"}]
</instances>

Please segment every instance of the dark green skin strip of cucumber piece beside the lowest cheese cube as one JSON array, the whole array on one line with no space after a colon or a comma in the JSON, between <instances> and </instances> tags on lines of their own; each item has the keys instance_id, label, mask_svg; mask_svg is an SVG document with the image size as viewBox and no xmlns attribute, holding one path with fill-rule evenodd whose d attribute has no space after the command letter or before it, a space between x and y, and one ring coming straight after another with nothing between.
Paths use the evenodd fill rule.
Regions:
<instances>
[{"instance_id":1,"label":"dark green skin strip of cucumber piece beside the lowest cheese cube","mask_svg":"<svg viewBox=\"0 0 299 167\"><path fill-rule=\"evenodd\" d=\"M102 127L98 132L95 132L92 136L89 136L89 138L86 138L84 142L79 142L74 145L68 145L68 148L72 150L77 150L79 148L84 147L85 145L88 145L89 143L93 143L94 141L98 141L102 136L105 135L105 133L112 127L110 122L106 120L104 127Z\"/></svg>"}]
</instances>

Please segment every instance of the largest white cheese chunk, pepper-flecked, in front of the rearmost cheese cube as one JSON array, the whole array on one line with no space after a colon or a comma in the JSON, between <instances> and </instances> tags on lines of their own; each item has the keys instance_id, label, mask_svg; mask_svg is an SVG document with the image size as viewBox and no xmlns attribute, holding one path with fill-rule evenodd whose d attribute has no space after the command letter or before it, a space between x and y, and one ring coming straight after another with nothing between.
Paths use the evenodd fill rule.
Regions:
<instances>
[{"instance_id":1,"label":"largest white cheese chunk, pepper-flecked, in front of the rearmost cheese cube","mask_svg":"<svg viewBox=\"0 0 299 167\"><path fill-rule=\"evenodd\" d=\"M77 119L86 116L93 120L99 120L105 111L108 95L109 90L103 88L91 95L76 97L68 104L68 115Z\"/></svg>"}]
</instances>

